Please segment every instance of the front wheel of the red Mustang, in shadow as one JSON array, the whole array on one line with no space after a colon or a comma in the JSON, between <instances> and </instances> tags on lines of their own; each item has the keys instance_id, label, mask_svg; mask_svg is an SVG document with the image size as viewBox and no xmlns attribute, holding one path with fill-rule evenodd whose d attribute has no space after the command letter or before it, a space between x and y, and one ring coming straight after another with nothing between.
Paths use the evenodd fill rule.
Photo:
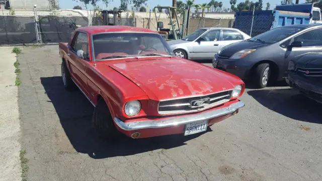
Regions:
<instances>
[{"instance_id":1,"label":"front wheel of the red Mustang, in shadow","mask_svg":"<svg viewBox=\"0 0 322 181\"><path fill-rule=\"evenodd\" d=\"M100 99L93 113L93 126L97 134L106 140L114 141L122 134L113 123L110 110L104 99Z\"/></svg>"}]
</instances>

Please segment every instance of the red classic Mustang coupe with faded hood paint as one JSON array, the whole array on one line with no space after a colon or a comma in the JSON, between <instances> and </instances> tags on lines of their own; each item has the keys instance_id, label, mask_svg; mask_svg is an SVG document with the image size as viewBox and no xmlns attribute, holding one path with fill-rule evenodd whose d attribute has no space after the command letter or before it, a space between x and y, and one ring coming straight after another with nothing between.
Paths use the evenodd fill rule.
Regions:
<instances>
[{"instance_id":1,"label":"red classic Mustang coupe with faded hood paint","mask_svg":"<svg viewBox=\"0 0 322 181\"><path fill-rule=\"evenodd\" d=\"M65 88L81 89L95 106L96 131L107 139L195 134L245 106L241 79L176 57L148 29L78 28L59 54Z\"/></svg>"}]
</instances>

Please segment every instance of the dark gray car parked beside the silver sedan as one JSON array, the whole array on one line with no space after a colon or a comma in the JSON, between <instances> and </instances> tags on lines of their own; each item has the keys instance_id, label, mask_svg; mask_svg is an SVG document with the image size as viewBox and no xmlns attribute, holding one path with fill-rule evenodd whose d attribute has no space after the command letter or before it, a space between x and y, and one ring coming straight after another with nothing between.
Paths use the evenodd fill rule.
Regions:
<instances>
[{"instance_id":1,"label":"dark gray car parked beside the silver sedan","mask_svg":"<svg viewBox=\"0 0 322 181\"><path fill-rule=\"evenodd\" d=\"M289 25L274 28L249 40L230 44L214 56L214 68L252 80L258 88L287 76L288 62L322 52L322 25Z\"/></svg>"}]
</instances>

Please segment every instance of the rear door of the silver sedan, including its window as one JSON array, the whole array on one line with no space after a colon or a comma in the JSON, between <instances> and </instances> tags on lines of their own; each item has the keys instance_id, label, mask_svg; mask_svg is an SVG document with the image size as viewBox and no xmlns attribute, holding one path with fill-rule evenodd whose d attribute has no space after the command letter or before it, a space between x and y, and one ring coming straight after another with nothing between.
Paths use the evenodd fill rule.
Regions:
<instances>
[{"instance_id":1,"label":"rear door of the silver sedan, including its window","mask_svg":"<svg viewBox=\"0 0 322 181\"><path fill-rule=\"evenodd\" d=\"M220 48L244 40L244 36L235 30L222 30Z\"/></svg>"}]
</instances>

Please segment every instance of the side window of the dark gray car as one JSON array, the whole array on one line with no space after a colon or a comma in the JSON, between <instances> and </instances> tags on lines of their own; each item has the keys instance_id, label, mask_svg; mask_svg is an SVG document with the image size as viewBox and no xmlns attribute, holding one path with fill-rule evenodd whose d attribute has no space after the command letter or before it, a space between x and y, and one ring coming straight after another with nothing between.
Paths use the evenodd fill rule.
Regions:
<instances>
[{"instance_id":1,"label":"side window of the dark gray car","mask_svg":"<svg viewBox=\"0 0 322 181\"><path fill-rule=\"evenodd\" d=\"M310 30L294 38L294 41L303 42L303 47L322 46L322 28Z\"/></svg>"}]
</instances>

